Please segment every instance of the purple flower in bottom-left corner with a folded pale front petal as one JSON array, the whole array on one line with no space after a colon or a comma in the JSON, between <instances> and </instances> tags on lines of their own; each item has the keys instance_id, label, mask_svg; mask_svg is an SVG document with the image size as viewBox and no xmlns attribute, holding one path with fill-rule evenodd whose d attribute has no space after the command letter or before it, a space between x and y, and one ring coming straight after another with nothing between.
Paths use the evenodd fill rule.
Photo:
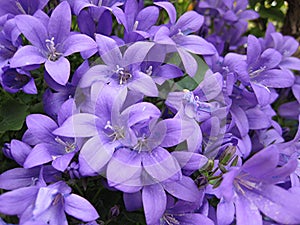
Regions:
<instances>
[{"instance_id":1,"label":"purple flower in bottom-left corner with a folded pale front petal","mask_svg":"<svg viewBox=\"0 0 300 225\"><path fill-rule=\"evenodd\" d=\"M99 217L86 199L71 194L71 188L62 181L49 186L19 188L2 194L0 200L0 212L18 215L20 224L66 225L65 212L85 222Z\"/></svg>"}]
</instances>

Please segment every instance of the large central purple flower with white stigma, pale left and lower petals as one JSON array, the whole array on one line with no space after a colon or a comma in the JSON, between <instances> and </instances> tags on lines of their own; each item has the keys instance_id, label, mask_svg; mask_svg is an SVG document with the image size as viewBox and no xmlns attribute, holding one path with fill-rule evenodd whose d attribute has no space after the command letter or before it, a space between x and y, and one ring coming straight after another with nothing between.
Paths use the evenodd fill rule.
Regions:
<instances>
[{"instance_id":1,"label":"large central purple flower with white stigma, pale left and lower petals","mask_svg":"<svg viewBox=\"0 0 300 225\"><path fill-rule=\"evenodd\" d=\"M116 147L137 144L131 126L145 119L160 116L160 110L146 102L123 109L126 97L126 88L118 90L109 85L102 85L99 88L94 114L75 114L54 131L54 134L66 137L92 137L80 151L81 174L100 173Z\"/></svg>"}]
</instances>

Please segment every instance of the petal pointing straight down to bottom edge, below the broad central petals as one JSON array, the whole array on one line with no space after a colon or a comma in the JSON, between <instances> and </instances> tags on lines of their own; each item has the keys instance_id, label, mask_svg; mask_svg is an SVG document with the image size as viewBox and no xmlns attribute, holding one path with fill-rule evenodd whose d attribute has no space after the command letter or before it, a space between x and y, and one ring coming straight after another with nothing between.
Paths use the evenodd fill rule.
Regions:
<instances>
[{"instance_id":1,"label":"petal pointing straight down to bottom edge, below the broad central petals","mask_svg":"<svg viewBox=\"0 0 300 225\"><path fill-rule=\"evenodd\" d=\"M142 191L147 224L159 224L167 207L167 196L160 184L145 186Z\"/></svg>"}]
</instances>

